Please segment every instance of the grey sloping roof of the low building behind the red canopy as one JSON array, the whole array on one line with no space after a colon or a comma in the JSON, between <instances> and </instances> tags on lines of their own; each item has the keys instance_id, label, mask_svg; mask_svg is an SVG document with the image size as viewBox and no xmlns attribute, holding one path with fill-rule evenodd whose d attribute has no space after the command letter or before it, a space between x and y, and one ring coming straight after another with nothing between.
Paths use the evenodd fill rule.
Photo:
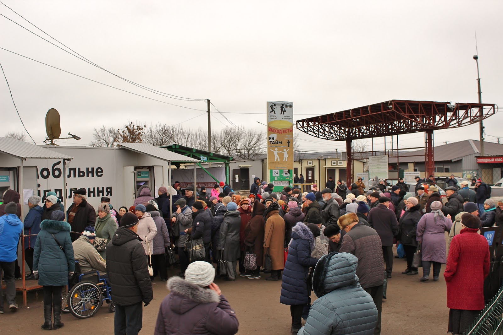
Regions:
<instances>
[{"instance_id":1,"label":"grey sloping roof of the low building behind the red canopy","mask_svg":"<svg viewBox=\"0 0 503 335\"><path fill-rule=\"evenodd\" d=\"M503 144L484 142L485 155L503 154ZM464 140L448 143L434 148L435 161L456 161L464 156L479 154L480 141ZM407 157L399 157L400 163L421 162L425 159L425 150L410 151L404 153ZM396 163L396 157L389 157L390 163Z\"/></svg>"}]
</instances>

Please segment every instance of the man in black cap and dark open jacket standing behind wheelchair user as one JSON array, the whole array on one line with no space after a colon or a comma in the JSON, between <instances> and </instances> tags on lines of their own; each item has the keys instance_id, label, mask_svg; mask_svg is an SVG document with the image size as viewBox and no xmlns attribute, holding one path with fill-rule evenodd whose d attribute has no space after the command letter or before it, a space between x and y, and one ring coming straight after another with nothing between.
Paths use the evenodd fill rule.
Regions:
<instances>
[{"instance_id":1,"label":"man in black cap and dark open jacket standing behind wheelchair user","mask_svg":"<svg viewBox=\"0 0 503 335\"><path fill-rule=\"evenodd\" d=\"M87 192L85 188L79 188L73 191L73 203L66 211L66 221L70 224L71 231L77 232L70 233L71 242L80 237L86 227L94 227L96 223L96 211L91 206L87 199Z\"/></svg>"}]
</instances>

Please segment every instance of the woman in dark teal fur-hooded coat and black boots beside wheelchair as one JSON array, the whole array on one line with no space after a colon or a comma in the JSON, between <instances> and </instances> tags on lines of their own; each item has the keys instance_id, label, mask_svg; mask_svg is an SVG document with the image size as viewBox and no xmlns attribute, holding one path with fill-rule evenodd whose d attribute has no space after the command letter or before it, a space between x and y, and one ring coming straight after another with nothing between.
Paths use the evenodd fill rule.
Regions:
<instances>
[{"instance_id":1,"label":"woman in dark teal fur-hooded coat and black boots beside wheelchair","mask_svg":"<svg viewBox=\"0 0 503 335\"><path fill-rule=\"evenodd\" d=\"M75 272L75 259L70 238L70 224L64 222L60 210L50 220L40 223L40 233L33 251L33 276L44 287L44 319L42 329L58 329L61 323L61 290ZM51 322L54 307L54 324Z\"/></svg>"}]
</instances>

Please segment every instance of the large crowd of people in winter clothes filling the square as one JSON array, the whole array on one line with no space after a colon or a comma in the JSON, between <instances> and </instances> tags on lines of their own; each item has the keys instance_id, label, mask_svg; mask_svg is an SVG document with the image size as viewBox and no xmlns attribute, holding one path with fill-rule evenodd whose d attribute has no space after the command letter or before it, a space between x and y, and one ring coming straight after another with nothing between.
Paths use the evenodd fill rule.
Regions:
<instances>
[{"instance_id":1,"label":"large crowd of people in winter clothes filling the square","mask_svg":"<svg viewBox=\"0 0 503 335\"><path fill-rule=\"evenodd\" d=\"M61 290L78 261L81 271L98 271L109 282L116 334L141 329L142 307L153 299L151 281L157 276L170 294L160 305L156 334L234 334L237 317L214 278L254 280L264 274L268 281L282 281L280 302L290 306L292 333L380 334L392 248L398 245L407 264L402 274L418 275L421 266L421 282L430 280L432 267L438 281L447 263L449 331L461 333L483 308L489 271L487 241L477 232L501 224L503 202L495 204L480 179L473 191L467 182L458 187L454 178L446 203L435 183L416 181L416 194L403 179L391 186L377 177L368 187L362 178L350 187L329 178L324 189L313 184L309 192L290 186L275 191L277 186L257 177L249 195L236 194L224 182L211 191L175 182L159 187L154 197L143 185L133 205L118 210L108 197L95 210L81 188L73 191L66 211L53 192L44 202L31 196L23 221L19 193L8 190L4 199L11 201L0 206L6 299L11 310L18 309L14 280L21 276L17 248L24 235L27 279L43 286L43 329L64 326ZM194 242L201 249L197 257ZM178 257L168 257L173 255ZM170 265L180 266L178 276L168 278ZM469 292L461 289L466 282ZM3 306L0 294L0 313Z\"/></svg>"}]
</instances>

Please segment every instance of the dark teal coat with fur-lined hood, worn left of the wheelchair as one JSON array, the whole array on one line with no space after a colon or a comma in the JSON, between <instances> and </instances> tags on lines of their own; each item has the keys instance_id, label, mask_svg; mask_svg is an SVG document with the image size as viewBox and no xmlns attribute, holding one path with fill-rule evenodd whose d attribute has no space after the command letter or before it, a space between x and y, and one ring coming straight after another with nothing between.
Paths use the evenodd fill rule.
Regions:
<instances>
[{"instance_id":1,"label":"dark teal coat with fur-lined hood, worn left of the wheelchair","mask_svg":"<svg viewBox=\"0 0 503 335\"><path fill-rule=\"evenodd\" d=\"M54 234L64 251L59 248L51 234ZM68 271L75 272L70 224L64 221L43 220L34 249L33 270L38 271L38 284L68 285Z\"/></svg>"}]
</instances>

